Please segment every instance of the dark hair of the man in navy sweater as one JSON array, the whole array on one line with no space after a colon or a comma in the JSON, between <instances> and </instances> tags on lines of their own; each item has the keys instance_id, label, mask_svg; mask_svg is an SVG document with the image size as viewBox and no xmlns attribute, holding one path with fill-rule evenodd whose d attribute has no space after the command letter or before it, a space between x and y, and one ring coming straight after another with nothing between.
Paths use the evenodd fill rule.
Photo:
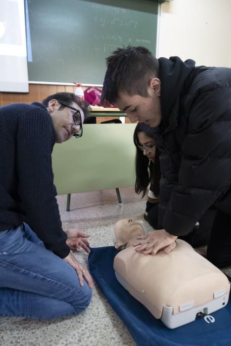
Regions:
<instances>
[{"instance_id":1,"label":"dark hair of the man in navy sweater","mask_svg":"<svg viewBox=\"0 0 231 346\"><path fill-rule=\"evenodd\" d=\"M43 104L47 107L50 100L55 99L58 102L63 102L68 106L71 106L73 102L77 103L84 112L85 119L89 115L89 103L82 101L79 96L75 95L72 92L57 92L56 94L49 95L43 100ZM59 110L61 111L65 106L60 104Z\"/></svg>"}]
</instances>

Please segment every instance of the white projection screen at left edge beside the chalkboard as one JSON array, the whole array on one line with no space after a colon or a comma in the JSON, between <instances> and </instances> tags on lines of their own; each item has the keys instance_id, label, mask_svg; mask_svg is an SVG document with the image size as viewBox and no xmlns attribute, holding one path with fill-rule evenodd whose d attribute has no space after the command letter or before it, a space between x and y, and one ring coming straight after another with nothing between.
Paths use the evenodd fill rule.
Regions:
<instances>
[{"instance_id":1,"label":"white projection screen at left edge beside the chalkboard","mask_svg":"<svg viewBox=\"0 0 231 346\"><path fill-rule=\"evenodd\" d=\"M0 0L0 92L28 92L24 0Z\"/></svg>"}]
</instances>

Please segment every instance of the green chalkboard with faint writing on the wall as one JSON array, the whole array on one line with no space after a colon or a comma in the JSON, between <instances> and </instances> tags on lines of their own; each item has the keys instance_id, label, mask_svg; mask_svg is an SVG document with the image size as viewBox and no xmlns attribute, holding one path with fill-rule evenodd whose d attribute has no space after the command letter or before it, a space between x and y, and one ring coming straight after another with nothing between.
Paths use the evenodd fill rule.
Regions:
<instances>
[{"instance_id":1,"label":"green chalkboard with faint writing on the wall","mask_svg":"<svg viewBox=\"0 0 231 346\"><path fill-rule=\"evenodd\" d=\"M120 46L155 54L158 3L151 0L27 0L29 81L102 84L105 58Z\"/></svg>"}]
</instances>

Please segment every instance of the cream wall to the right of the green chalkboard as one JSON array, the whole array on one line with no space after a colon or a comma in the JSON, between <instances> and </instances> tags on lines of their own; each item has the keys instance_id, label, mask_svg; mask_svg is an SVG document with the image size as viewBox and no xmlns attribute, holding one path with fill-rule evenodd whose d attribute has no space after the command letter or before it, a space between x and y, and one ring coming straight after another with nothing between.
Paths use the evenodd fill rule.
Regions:
<instances>
[{"instance_id":1,"label":"cream wall to the right of the green chalkboard","mask_svg":"<svg viewBox=\"0 0 231 346\"><path fill-rule=\"evenodd\" d=\"M160 6L157 57L231 67L231 0L173 0Z\"/></svg>"}]
</instances>

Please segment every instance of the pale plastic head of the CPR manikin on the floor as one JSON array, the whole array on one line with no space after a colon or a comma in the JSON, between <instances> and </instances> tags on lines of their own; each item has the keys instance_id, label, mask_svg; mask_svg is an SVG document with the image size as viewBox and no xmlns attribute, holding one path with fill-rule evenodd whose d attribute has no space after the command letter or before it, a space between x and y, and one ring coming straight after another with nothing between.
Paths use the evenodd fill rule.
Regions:
<instances>
[{"instance_id":1,"label":"pale plastic head of the CPR manikin on the floor","mask_svg":"<svg viewBox=\"0 0 231 346\"><path fill-rule=\"evenodd\" d=\"M117 221L113 231L113 243L117 250L131 246L137 241L136 237L144 234L142 225L132 218Z\"/></svg>"}]
</instances>

